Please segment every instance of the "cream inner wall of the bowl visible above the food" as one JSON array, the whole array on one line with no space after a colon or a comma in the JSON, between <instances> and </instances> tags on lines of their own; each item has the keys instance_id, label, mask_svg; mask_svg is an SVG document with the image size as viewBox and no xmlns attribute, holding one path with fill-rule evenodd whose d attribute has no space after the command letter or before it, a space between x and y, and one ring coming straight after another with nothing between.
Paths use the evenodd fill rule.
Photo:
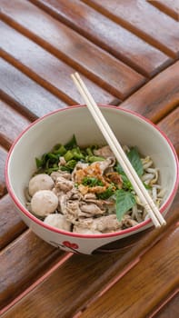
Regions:
<instances>
[{"instance_id":1,"label":"cream inner wall of the bowl visible above the food","mask_svg":"<svg viewBox=\"0 0 179 318\"><path fill-rule=\"evenodd\" d=\"M142 117L120 108L101 107L101 110L121 144L136 145L141 154L153 158L160 171L166 201L174 190L177 166L172 147L164 134ZM48 114L16 140L8 160L7 175L11 192L21 204L25 206L25 187L35 172L35 157L48 152L55 144L65 144L73 134L79 145L106 144L84 106Z\"/></svg>"}]
</instances>

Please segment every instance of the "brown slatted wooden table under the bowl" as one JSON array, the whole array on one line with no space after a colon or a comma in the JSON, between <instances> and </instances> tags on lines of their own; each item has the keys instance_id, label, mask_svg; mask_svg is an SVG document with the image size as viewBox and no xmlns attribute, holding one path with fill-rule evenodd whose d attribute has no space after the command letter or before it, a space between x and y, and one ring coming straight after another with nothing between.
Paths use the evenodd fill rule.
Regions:
<instances>
[{"instance_id":1,"label":"brown slatted wooden table under the bowl","mask_svg":"<svg viewBox=\"0 0 179 318\"><path fill-rule=\"evenodd\" d=\"M179 154L178 0L0 0L0 299L2 317L176 318L178 204L167 225L125 253L65 253L33 234L5 188L5 157L25 127L83 103L77 70L98 103L157 124Z\"/></svg>"}]
</instances>

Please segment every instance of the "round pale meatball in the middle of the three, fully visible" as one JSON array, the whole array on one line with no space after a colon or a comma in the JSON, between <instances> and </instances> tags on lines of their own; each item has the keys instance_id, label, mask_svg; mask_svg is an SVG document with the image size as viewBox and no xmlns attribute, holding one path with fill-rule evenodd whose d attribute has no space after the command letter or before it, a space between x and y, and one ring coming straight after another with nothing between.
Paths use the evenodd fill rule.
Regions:
<instances>
[{"instance_id":1,"label":"round pale meatball in the middle of the three, fully visible","mask_svg":"<svg viewBox=\"0 0 179 318\"><path fill-rule=\"evenodd\" d=\"M57 196L50 190L35 192L31 200L32 212L39 216L46 216L55 212L58 206Z\"/></svg>"}]
</instances>

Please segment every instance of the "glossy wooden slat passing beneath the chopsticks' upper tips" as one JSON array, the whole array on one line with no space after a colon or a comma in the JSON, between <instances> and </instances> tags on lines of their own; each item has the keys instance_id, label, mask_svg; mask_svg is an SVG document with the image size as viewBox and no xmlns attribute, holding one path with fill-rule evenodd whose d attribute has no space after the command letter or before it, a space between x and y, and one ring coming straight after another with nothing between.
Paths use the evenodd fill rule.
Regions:
<instances>
[{"instance_id":1,"label":"glossy wooden slat passing beneath the chopsticks' upper tips","mask_svg":"<svg viewBox=\"0 0 179 318\"><path fill-rule=\"evenodd\" d=\"M0 55L3 55L11 64L20 68L38 84L65 100L67 104L84 103L70 78L75 69L5 23L0 22L0 28L1 47L4 49ZM114 99L113 95L105 92L104 89L85 77L84 79L96 101L107 104Z\"/></svg>"}]
</instances>

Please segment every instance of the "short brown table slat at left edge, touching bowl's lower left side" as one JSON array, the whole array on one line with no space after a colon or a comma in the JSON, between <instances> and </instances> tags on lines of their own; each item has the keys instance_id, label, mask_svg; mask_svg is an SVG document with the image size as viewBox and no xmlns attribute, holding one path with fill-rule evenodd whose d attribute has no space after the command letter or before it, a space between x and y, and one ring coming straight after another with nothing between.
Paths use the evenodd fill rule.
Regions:
<instances>
[{"instance_id":1,"label":"short brown table slat at left edge, touching bowl's lower left side","mask_svg":"<svg viewBox=\"0 0 179 318\"><path fill-rule=\"evenodd\" d=\"M15 240L26 229L8 194L0 200L0 229L0 249Z\"/></svg>"}]
</instances>

